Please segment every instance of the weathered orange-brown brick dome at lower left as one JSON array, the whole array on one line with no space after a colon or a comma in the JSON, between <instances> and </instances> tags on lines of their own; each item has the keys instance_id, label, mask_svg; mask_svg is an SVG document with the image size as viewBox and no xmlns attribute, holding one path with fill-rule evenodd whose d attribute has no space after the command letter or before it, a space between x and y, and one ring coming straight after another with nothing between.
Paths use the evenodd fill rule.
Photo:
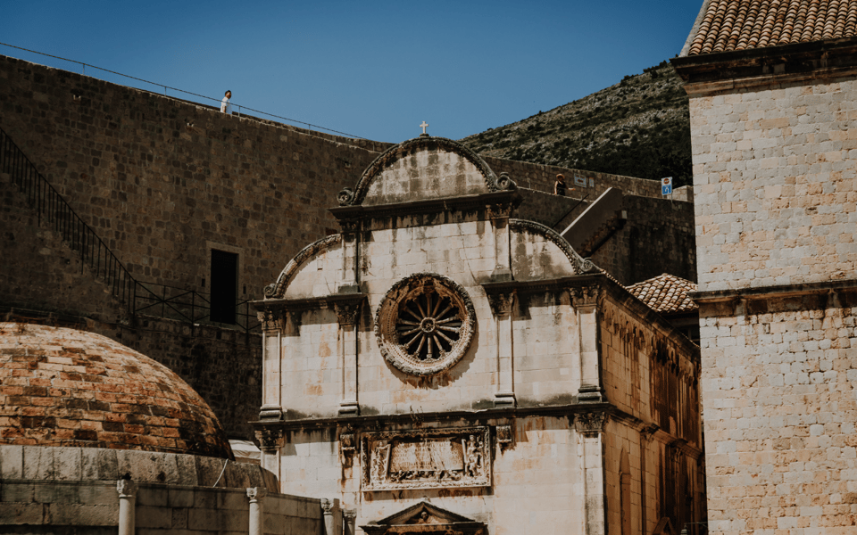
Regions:
<instances>
[{"instance_id":1,"label":"weathered orange-brown brick dome at lower left","mask_svg":"<svg viewBox=\"0 0 857 535\"><path fill-rule=\"evenodd\" d=\"M232 458L179 375L100 334L0 323L0 406L0 444Z\"/></svg>"}]
</instances>

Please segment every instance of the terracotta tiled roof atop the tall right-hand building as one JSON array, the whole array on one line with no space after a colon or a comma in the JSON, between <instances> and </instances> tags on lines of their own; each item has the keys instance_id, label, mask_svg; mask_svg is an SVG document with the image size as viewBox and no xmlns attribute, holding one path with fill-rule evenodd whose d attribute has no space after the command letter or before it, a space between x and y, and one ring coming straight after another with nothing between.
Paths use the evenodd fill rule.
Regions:
<instances>
[{"instance_id":1,"label":"terracotta tiled roof atop the tall right-hand building","mask_svg":"<svg viewBox=\"0 0 857 535\"><path fill-rule=\"evenodd\" d=\"M708 0L687 55L857 36L857 0Z\"/></svg>"}]
</instances>

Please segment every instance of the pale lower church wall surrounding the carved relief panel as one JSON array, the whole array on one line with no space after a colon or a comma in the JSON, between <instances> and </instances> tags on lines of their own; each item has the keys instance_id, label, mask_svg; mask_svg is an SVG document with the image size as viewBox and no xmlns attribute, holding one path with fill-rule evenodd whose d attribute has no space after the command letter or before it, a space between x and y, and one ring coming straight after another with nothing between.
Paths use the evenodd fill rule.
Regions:
<instances>
[{"instance_id":1,"label":"pale lower church wall surrounding the carved relief panel","mask_svg":"<svg viewBox=\"0 0 857 535\"><path fill-rule=\"evenodd\" d=\"M424 422L420 428L496 423L451 420L443 424ZM512 446L493 450L491 488L371 493L360 492L359 456L354 456L354 465L340 468L335 430L289 432L280 457L283 489L311 496L341 495L344 509L358 508L357 526L430 500L432 505L487 523L488 532L495 535L586 533L586 519L580 514L586 501L583 465L573 426L570 428L565 417L545 416L519 418L513 429Z\"/></svg>"}]
</instances>

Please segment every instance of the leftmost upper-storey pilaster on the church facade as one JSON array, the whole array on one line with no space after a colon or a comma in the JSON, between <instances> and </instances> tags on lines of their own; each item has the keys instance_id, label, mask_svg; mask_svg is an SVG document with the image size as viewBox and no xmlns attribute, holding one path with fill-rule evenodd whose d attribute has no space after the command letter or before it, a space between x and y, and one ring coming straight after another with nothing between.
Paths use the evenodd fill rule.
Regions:
<instances>
[{"instance_id":1,"label":"leftmost upper-storey pilaster on the church facade","mask_svg":"<svg viewBox=\"0 0 857 535\"><path fill-rule=\"evenodd\" d=\"M259 420L283 420L283 330L286 328L285 310L262 310L262 408Z\"/></svg>"}]
</instances>

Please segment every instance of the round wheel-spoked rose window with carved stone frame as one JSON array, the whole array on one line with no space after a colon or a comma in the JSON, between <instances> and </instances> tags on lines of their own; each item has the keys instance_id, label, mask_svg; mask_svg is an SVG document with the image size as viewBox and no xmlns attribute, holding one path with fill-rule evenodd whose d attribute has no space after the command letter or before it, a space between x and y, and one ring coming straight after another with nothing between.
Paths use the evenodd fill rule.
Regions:
<instances>
[{"instance_id":1,"label":"round wheel-spoked rose window with carved stone frame","mask_svg":"<svg viewBox=\"0 0 857 535\"><path fill-rule=\"evenodd\" d=\"M475 313L470 297L452 279L409 276L387 292L375 321L384 357L407 374L438 374L470 346Z\"/></svg>"}]
</instances>

